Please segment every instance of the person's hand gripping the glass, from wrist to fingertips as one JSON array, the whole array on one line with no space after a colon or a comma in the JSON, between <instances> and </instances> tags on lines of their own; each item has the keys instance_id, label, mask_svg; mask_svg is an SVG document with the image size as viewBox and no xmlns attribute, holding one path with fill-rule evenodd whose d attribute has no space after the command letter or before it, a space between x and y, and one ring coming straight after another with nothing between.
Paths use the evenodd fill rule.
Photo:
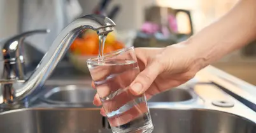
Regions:
<instances>
[{"instance_id":1,"label":"person's hand gripping the glass, from wrist to fingertips","mask_svg":"<svg viewBox=\"0 0 256 133\"><path fill-rule=\"evenodd\" d=\"M135 53L141 73L129 89L136 96L145 92L147 99L187 82L196 75L197 71L206 66L185 43L164 48L136 48ZM92 87L95 88L93 83ZM101 106L97 94L94 105ZM103 111L101 110L102 114Z\"/></svg>"}]
</instances>

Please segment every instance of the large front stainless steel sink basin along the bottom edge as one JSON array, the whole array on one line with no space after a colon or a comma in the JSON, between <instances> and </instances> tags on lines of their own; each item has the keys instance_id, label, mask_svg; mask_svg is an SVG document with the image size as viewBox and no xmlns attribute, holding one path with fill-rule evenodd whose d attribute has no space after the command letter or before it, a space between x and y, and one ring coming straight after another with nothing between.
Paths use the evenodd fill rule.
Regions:
<instances>
[{"instance_id":1,"label":"large front stainless steel sink basin along the bottom edge","mask_svg":"<svg viewBox=\"0 0 256 133\"><path fill-rule=\"evenodd\" d=\"M153 133L255 133L246 118L212 110L150 109ZM1 133L108 133L99 108L30 108L0 113Z\"/></svg>"}]
</instances>

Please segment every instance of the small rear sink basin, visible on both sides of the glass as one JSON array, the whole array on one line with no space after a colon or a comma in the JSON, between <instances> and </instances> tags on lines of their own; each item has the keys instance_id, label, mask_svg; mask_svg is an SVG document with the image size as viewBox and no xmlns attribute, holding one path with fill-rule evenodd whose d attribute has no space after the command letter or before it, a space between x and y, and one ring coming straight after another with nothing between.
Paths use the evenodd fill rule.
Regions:
<instances>
[{"instance_id":1,"label":"small rear sink basin, visible on both sides of the glass","mask_svg":"<svg viewBox=\"0 0 256 133\"><path fill-rule=\"evenodd\" d=\"M96 90L90 85L64 85L46 89L41 99L55 105L92 103ZM149 102L177 102L192 99L187 89L174 88L153 96Z\"/></svg>"}]
</instances>

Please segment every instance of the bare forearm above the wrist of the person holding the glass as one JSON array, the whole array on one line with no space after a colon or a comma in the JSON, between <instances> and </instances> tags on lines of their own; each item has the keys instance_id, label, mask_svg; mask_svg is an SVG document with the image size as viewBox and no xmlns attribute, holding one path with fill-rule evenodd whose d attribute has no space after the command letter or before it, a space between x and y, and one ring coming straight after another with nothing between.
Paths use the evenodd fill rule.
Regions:
<instances>
[{"instance_id":1,"label":"bare forearm above the wrist of the person holding the glass","mask_svg":"<svg viewBox=\"0 0 256 133\"><path fill-rule=\"evenodd\" d=\"M256 1L241 0L225 16L203 28L186 42L195 51L202 67L222 58L250 41L256 35Z\"/></svg>"}]
</instances>

